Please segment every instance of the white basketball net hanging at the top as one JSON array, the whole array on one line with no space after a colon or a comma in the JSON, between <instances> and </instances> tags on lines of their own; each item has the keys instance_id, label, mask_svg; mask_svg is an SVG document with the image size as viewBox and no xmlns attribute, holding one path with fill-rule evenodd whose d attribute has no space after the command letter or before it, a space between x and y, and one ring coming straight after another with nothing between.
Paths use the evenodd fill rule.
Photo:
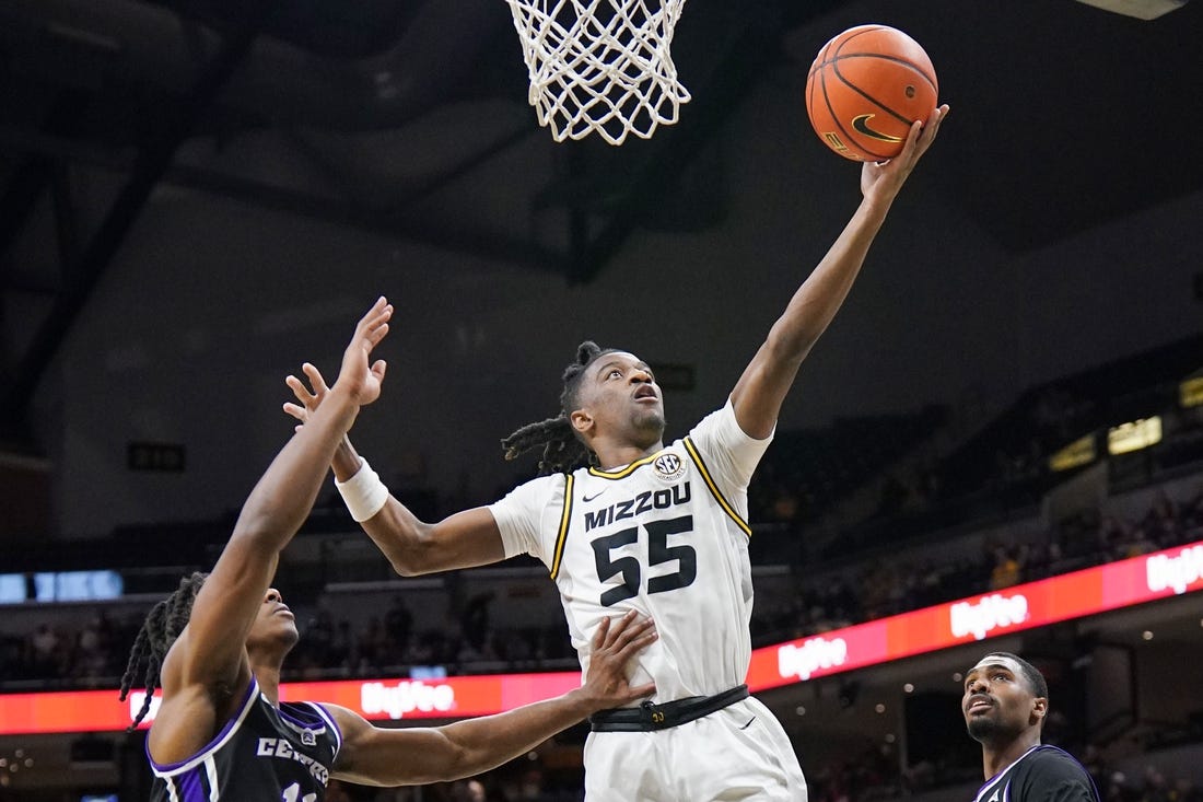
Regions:
<instances>
[{"instance_id":1,"label":"white basketball net hanging at the top","mask_svg":"<svg viewBox=\"0 0 1203 802\"><path fill-rule=\"evenodd\" d=\"M557 142L610 145L677 122L689 92L670 48L685 0L506 0L531 73L531 105Z\"/></svg>"}]
</instances>

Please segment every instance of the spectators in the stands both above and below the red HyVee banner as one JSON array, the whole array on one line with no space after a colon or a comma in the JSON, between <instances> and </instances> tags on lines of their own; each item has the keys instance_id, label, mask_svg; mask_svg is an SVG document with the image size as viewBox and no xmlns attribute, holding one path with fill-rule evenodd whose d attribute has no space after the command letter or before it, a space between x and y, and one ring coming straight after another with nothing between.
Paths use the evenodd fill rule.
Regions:
<instances>
[{"instance_id":1,"label":"spectators in the stands both above and below the red HyVee banner","mask_svg":"<svg viewBox=\"0 0 1203 802\"><path fill-rule=\"evenodd\" d=\"M841 579L799 582L793 600L760 606L753 641L763 645L890 615L990 589L1055 576L1088 565L1203 539L1203 483L1192 493L1165 490L1140 514L1086 508L1060 521L1045 538L989 543L977 560L924 565L866 561ZM490 596L469 598L458 626L431 627L403 596L354 627L324 605L300 621L303 635L286 679L390 676L414 666L443 666L450 673L564 668L575 662L562 621L511 629L490 615ZM144 611L125 614L99 608L75 627L48 623L24 635L0 637L0 686L112 688L125 667L128 648ZM1051 730L1055 741L1055 729ZM1196 733L1203 742L1203 732ZM1066 744L1083 756L1102 802L1203 802L1199 783L1167 777L1151 765L1118 771L1089 743ZM576 747L579 749L579 747ZM814 802L881 802L925 790L979 783L976 765L920 761L902 767L890 744L866 743L859 754L813 765L804 760ZM367 789L331 783L332 802L570 802L580 798L579 769L544 766L537 755L470 780L415 789Z\"/></svg>"}]
</instances>

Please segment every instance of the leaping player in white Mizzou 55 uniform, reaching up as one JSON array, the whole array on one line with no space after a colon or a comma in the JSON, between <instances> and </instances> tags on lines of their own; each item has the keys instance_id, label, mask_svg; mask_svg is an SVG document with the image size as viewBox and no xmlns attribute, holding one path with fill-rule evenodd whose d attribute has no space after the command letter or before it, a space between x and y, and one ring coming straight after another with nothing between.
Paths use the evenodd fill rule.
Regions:
<instances>
[{"instance_id":1,"label":"leaping player in white Mizzou 55 uniform, reaching up","mask_svg":"<svg viewBox=\"0 0 1203 802\"><path fill-rule=\"evenodd\" d=\"M656 378L634 354L583 343L564 372L561 414L503 441L508 456L543 447L541 476L502 501L437 524L393 499L349 441L334 478L352 517L402 574L478 566L529 553L559 586L585 671L594 627L616 611L653 617L659 641L633 683L654 700L592 717L585 747L591 802L805 800L790 743L743 685L751 655L747 486L798 368L852 287L947 106L912 128L902 153L865 164L863 200L798 289L721 409L663 443ZM304 420L321 375L289 378Z\"/></svg>"}]
</instances>

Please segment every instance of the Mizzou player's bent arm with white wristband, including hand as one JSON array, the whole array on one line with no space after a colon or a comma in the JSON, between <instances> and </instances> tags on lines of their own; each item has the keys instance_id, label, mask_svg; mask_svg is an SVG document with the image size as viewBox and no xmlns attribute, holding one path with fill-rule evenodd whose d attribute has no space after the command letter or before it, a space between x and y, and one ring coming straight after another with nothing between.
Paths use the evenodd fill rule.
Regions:
<instances>
[{"instance_id":1,"label":"Mizzou player's bent arm with white wristband, including hand","mask_svg":"<svg viewBox=\"0 0 1203 802\"><path fill-rule=\"evenodd\" d=\"M302 371L308 387L295 376L288 377L286 384L300 403L285 403L284 411L303 425L321 405L328 388L313 365L306 362ZM435 524L420 520L387 491L345 436L331 467L351 517L401 576L470 568L505 559L502 532L487 508L467 509Z\"/></svg>"}]
</instances>

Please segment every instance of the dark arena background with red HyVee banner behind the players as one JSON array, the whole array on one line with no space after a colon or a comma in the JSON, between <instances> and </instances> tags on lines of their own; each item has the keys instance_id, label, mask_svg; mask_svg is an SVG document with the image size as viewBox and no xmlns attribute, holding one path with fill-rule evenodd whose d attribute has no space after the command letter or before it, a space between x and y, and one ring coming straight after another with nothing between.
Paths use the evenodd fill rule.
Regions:
<instances>
[{"instance_id":1,"label":"dark arena background with red HyVee banner behind the players","mask_svg":"<svg viewBox=\"0 0 1203 802\"><path fill-rule=\"evenodd\" d=\"M859 202L802 87L864 23L952 113L753 479L752 690L813 802L965 802L961 672L1019 653L1106 802L1198 802L1198 0L689 0L693 100L621 147L538 125L502 0L0 0L0 801L147 798L134 632L378 295L355 441L427 520L533 476L498 442L583 338L670 437L721 406ZM384 726L579 682L540 564L402 579L332 485L278 584L285 686ZM583 738L327 798L577 800Z\"/></svg>"}]
</instances>

